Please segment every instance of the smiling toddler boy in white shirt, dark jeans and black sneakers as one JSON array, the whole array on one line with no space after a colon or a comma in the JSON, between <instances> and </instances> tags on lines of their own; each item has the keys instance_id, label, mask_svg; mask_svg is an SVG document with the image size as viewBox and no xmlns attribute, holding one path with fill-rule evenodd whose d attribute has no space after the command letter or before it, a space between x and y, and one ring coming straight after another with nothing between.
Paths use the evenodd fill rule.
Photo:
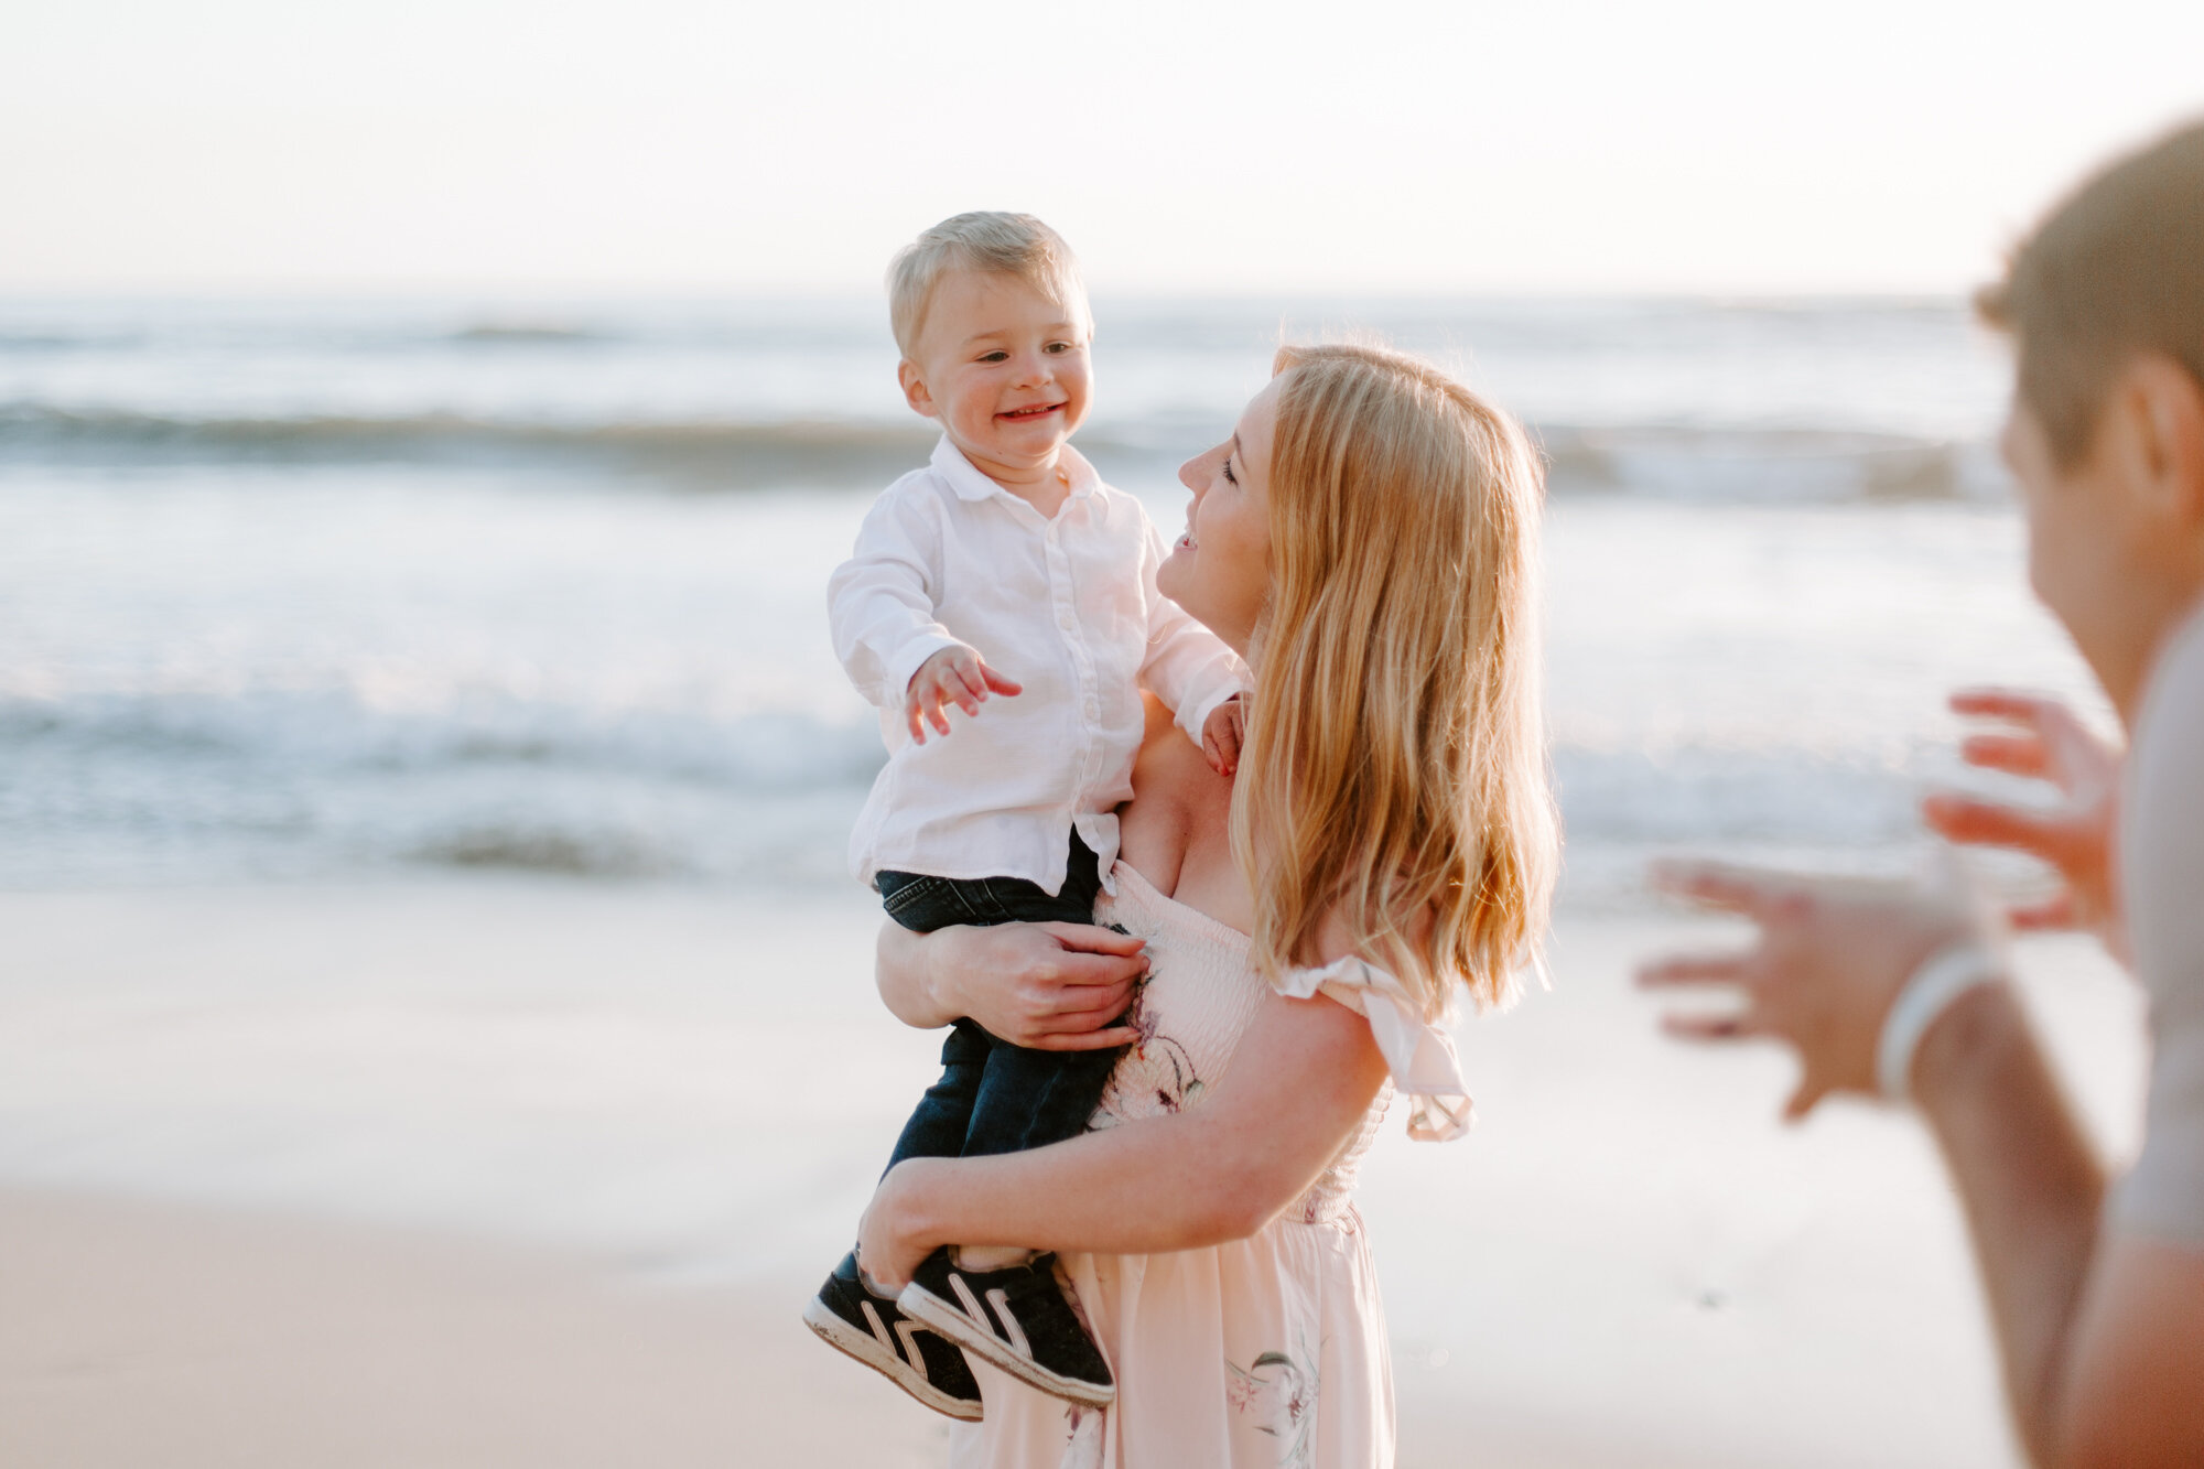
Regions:
<instances>
[{"instance_id":1,"label":"smiling toddler boy in white shirt, dark jeans and black sneakers","mask_svg":"<svg viewBox=\"0 0 2204 1469\"><path fill-rule=\"evenodd\" d=\"M1225 772L1245 666L1157 593L1164 536L1069 443L1091 401L1093 318L1054 229L1029 214L941 221L890 265L888 318L904 397L941 441L882 492L829 582L835 653L888 746L851 867L921 933L1087 924L1115 889L1139 690ZM1016 1046L957 1017L890 1167L1078 1134L1122 1039ZM901 1301L844 1255L804 1321L952 1418L981 1414L957 1345L1076 1403L1115 1392L1054 1259L1025 1248L937 1251Z\"/></svg>"}]
</instances>

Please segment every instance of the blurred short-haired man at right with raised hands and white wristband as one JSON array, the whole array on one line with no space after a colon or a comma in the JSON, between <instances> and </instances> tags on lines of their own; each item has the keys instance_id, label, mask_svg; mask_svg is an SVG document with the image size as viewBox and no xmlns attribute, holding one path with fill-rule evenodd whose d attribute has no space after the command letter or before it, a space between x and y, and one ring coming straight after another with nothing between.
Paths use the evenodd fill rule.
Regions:
<instances>
[{"instance_id":1,"label":"blurred short-haired man at right with raised hands and white wristband","mask_svg":"<svg viewBox=\"0 0 2204 1469\"><path fill-rule=\"evenodd\" d=\"M2063 878L2023 929L2096 931L2149 997L2144 1145L2092 1154L2008 984L1999 915L1964 884L1858 884L1671 865L1677 893L1750 918L1746 953L1675 955L1651 986L1730 986L1695 1039L1798 1052L1798 1118L1829 1094L1911 1101L1957 1184L2008 1403L2036 1465L2204 1462L2204 126L2085 181L1979 298L2010 331L2003 454L2030 582L2129 737L2054 701L1955 697L2008 721L1966 759L2059 790L2054 809L1931 796L1951 840ZM2118 821L2114 818L2118 807Z\"/></svg>"}]
</instances>

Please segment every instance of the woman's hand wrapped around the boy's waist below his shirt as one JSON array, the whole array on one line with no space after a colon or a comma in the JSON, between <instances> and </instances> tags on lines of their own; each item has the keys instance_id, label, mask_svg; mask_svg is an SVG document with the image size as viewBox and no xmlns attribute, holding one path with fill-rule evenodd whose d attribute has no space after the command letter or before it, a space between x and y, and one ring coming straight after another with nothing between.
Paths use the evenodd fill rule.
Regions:
<instances>
[{"instance_id":1,"label":"woman's hand wrapped around the boy's waist below his shirt","mask_svg":"<svg viewBox=\"0 0 2204 1469\"><path fill-rule=\"evenodd\" d=\"M1095 924L994 924L937 929L926 937L930 988L948 1012L968 1015L1027 1050L1109 1050L1133 1043L1113 1026L1148 973L1142 940Z\"/></svg>"}]
</instances>

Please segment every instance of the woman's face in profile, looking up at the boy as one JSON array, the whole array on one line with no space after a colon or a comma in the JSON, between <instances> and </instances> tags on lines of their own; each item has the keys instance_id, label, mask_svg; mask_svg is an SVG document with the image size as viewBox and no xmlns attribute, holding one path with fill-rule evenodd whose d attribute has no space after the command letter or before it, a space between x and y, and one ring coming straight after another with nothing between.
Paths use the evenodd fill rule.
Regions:
<instances>
[{"instance_id":1,"label":"woman's face in profile, looking up at the boy","mask_svg":"<svg viewBox=\"0 0 2204 1469\"><path fill-rule=\"evenodd\" d=\"M1155 573L1155 587L1241 657L1270 598L1270 443L1278 428L1278 384L1254 395L1232 437L1179 465L1195 492L1186 534Z\"/></svg>"}]
</instances>

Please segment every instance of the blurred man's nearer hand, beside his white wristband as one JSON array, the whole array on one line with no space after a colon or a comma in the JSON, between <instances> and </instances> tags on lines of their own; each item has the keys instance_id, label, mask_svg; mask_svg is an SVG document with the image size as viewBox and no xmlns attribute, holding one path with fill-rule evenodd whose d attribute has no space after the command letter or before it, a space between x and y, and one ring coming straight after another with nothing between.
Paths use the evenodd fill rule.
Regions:
<instances>
[{"instance_id":1,"label":"blurred man's nearer hand, beside his white wristband","mask_svg":"<svg viewBox=\"0 0 2204 1469\"><path fill-rule=\"evenodd\" d=\"M1787 1120L1832 1092L1876 1094L1876 1043L1898 990L1940 948L1988 937L1968 893L1917 882L1792 878L1724 862L1662 862L1653 882L1759 924L1752 948L1651 959L1638 984L1739 990L1732 1012L1671 1010L1662 1028L1690 1041L1770 1037L1796 1050Z\"/></svg>"}]
</instances>

